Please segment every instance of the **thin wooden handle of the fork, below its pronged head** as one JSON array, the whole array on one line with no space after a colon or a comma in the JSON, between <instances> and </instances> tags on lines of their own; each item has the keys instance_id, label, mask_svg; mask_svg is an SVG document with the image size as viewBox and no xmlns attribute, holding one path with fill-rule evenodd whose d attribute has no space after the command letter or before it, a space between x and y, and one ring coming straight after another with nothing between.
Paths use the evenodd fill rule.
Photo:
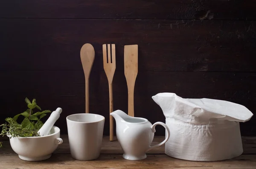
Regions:
<instances>
[{"instance_id":1,"label":"thin wooden handle of the fork, below its pronged head","mask_svg":"<svg viewBox=\"0 0 256 169\"><path fill-rule=\"evenodd\" d=\"M108 83L109 89L109 113L113 112L113 91L112 91L112 83ZM109 140L113 141L114 137L114 120L111 115L109 115Z\"/></svg>"}]
</instances>

